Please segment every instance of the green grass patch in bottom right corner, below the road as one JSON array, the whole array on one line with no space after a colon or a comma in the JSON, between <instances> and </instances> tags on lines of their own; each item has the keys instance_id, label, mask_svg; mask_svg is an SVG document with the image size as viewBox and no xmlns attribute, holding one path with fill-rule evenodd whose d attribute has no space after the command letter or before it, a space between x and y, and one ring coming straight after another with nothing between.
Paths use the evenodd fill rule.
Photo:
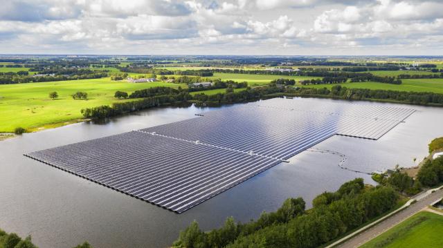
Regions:
<instances>
[{"instance_id":1,"label":"green grass patch in bottom right corner, below the road","mask_svg":"<svg viewBox=\"0 0 443 248\"><path fill-rule=\"evenodd\" d=\"M419 212L361 248L443 247L443 216Z\"/></svg>"}]
</instances>

